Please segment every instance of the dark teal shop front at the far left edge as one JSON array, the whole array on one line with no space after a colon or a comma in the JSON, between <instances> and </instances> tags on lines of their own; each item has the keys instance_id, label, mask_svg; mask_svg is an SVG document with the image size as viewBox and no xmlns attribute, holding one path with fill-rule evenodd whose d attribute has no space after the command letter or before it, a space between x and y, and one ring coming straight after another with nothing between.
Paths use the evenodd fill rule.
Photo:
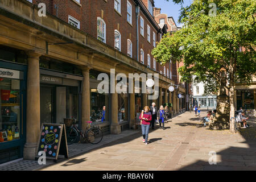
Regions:
<instances>
[{"instance_id":1,"label":"dark teal shop front at the far left edge","mask_svg":"<svg viewBox=\"0 0 256 182\"><path fill-rule=\"evenodd\" d=\"M0 60L0 164L22 158L27 66Z\"/></svg>"}]
</instances>

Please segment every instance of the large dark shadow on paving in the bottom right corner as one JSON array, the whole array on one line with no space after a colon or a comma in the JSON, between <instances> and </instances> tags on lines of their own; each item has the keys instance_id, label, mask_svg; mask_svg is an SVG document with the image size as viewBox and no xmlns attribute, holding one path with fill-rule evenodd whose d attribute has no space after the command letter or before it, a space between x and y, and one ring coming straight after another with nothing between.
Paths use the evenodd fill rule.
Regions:
<instances>
[{"instance_id":1,"label":"large dark shadow on paving in the bottom right corner","mask_svg":"<svg viewBox=\"0 0 256 182\"><path fill-rule=\"evenodd\" d=\"M256 170L256 122L255 119L249 121L250 127L237 131L237 135L241 134L248 145L247 148L230 146L226 150L217 152L220 156L220 162L210 165L209 162L198 160L188 166L180 168L181 171L200 170L200 171L216 171L216 170ZM181 124L181 123L180 123ZM184 124L184 123L183 123ZM217 138L213 138L215 140ZM235 138L234 138L235 139ZM212 155L209 155L209 159ZM210 160L213 162L213 160Z\"/></svg>"}]
</instances>

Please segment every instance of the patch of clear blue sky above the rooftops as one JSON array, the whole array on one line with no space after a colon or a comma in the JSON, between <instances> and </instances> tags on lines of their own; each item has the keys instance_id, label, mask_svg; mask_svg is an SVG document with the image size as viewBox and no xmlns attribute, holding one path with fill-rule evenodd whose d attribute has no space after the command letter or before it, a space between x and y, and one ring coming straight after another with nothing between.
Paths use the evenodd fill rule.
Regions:
<instances>
[{"instance_id":1,"label":"patch of clear blue sky above the rooftops","mask_svg":"<svg viewBox=\"0 0 256 182\"><path fill-rule=\"evenodd\" d=\"M177 24L178 27L181 26L177 22L179 19L179 14L180 14L180 5L176 5L172 0L169 0L169 2L165 0L154 0L155 2L155 7L160 7L161 13L167 14L168 16L174 17L175 23ZM190 5L193 2L193 0L184 0L184 7Z\"/></svg>"}]
</instances>

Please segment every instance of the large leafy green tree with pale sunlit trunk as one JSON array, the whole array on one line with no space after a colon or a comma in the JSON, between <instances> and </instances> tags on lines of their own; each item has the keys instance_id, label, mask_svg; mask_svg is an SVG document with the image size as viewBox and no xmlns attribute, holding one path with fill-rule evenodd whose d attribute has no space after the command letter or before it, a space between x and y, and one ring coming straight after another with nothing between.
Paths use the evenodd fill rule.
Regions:
<instances>
[{"instance_id":1,"label":"large leafy green tree with pale sunlit trunk","mask_svg":"<svg viewBox=\"0 0 256 182\"><path fill-rule=\"evenodd\" d=\"M215 8L216 7L216 8ZM170 59L183 61L181 80L207 82L205 92L220 89L220 69L225 69L230 102L230 119L234 117L234 83L250 85L256 72L254 0L194 0L181 7L180 31L164 35L152 55L161 64ZM230 122L234 132L234 119Z\"/></svg>"}]
</instances>

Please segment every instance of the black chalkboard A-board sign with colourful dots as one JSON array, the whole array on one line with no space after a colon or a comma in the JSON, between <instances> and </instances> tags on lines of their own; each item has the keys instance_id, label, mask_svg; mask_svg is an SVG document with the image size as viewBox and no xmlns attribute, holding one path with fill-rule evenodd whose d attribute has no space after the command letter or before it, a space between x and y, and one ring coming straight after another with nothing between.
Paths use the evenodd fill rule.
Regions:
<instances>
[{"instance_id":1,"label":"black chalkboard A-board sign with colourful dots","mask_svg":"<svg viewBox=\"0 0 256 182\"><path fill-rule=\"evenodd\" d=\"M68 158L68 144L64 124L42 123L36 156L39 151L46 152L46 158L57 159L58 155Z\"/></svg>"}]
</instances>

